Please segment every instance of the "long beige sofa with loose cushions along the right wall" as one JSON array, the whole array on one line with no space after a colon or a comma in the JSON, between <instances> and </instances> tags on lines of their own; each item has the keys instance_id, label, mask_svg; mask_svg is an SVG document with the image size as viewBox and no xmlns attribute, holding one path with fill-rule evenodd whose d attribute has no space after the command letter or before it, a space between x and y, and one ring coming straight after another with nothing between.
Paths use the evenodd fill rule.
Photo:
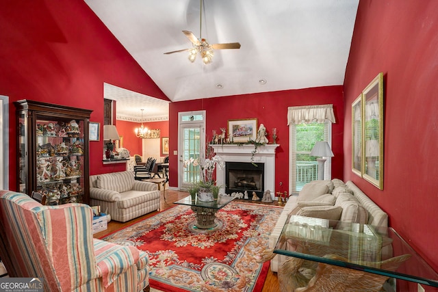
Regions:
<instances>
[{"instance_id":1,"label":"long beige sofa with loose cushions along the right wall","mask_svg":"<svg viewBox=\"0 0 438 292\"><path fill-rule=\"evenodd\" d=\"M388 215L379 208L352 181L344 184L339 179L307 183L298 196L290 196L269 238L269 248L274 248L287 215L322 217L373 226L388 226ZM277 255L271 260L271 270L278 271L279 263L287 257Z\"/></svg>"}]
</instances>

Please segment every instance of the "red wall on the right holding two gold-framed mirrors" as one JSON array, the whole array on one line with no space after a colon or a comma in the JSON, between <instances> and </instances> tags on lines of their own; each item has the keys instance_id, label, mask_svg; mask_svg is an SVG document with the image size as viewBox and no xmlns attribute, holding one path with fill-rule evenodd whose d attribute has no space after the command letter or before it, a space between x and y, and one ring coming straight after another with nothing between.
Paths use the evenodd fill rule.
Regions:
<instances>
[{"instance_id":1,"label":"red wall on the right holding two gold-framed mirrors","mask_svg":"<svg viewBox=\"0 0 438 292\"><path fill-rule=\"evenodd\" d=\"M344 177L438 271L438 1L360 1L344 96ZM384 74L383 191L351 171L352 101ZM416 289L415 289L416 291Z\"/></svg>"}]
</instances>

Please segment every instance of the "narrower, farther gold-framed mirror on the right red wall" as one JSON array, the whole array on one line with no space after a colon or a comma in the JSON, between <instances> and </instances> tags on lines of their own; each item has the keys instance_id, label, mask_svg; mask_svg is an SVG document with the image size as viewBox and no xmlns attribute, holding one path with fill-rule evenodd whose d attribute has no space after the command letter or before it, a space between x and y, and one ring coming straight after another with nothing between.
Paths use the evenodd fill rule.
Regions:
<instances>
[{"instance_id":1,"label":"narrower, farther gold-framed mirror on the right red wall","mask_svg":"<svg viewBox=\"0 0 438 292\"><path fill-rule=\"evenodd\" d=\"M362 94L351 105L352 172L362 177Z\"/></svg>"}]
</instances>

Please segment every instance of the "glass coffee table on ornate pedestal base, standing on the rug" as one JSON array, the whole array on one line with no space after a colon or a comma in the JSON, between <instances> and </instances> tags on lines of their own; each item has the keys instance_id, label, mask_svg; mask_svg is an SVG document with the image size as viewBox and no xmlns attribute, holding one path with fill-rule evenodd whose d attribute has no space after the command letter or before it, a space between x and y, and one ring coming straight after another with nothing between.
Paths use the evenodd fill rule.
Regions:
<instances>
[{"instance_id":1,"label":"glass coffee table on ornate pedestal base, standing on the rug","mask_svg":"<svg viewBox=\"0 0 438 292\"><path fill-rule=\"evenodd\" d=\"M197 196L194 200L192 200L191 196L188 196L174 202L174 204L183 204L191 207L192 211L196 213L196 223L194 224L196 228L215 230L219 225L216 212L227 206L234 198L231 196L219 196L218 200L213 202L202 202L198 200Z\"/></svg>"}]
</instances>

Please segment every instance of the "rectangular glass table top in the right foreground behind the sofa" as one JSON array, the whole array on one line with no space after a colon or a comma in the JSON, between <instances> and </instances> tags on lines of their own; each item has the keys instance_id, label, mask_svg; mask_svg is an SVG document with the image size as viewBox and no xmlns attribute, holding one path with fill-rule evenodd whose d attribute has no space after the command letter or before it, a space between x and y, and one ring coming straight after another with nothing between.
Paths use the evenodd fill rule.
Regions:
<instances>
[{"instance_id":1,"label":"rectangular glass table top in the right foreground behind the sofa","mask_svg":"<svg viewBox=\"0 0 438 292\"><path fill-rule=\"evenodd\" d=\"M438 287L437 272L393 228L289 215L274 253Z\"/></svg>"}]
</instances>

